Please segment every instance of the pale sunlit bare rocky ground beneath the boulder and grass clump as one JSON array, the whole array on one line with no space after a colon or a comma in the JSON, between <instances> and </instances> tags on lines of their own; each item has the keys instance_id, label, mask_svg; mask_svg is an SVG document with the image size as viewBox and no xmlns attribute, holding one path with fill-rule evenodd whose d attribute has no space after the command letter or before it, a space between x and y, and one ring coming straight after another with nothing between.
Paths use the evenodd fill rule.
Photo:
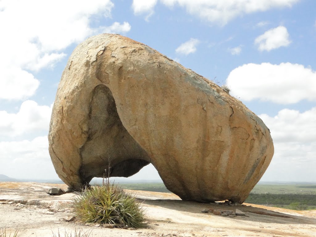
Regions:
<instances>
[{"instance_id":1,"label":"pale sunlit bare rocky ground beneath the boulder and grass clump","mask_svg":"<svg viewBox=\"0 0 316 237\"><path fill-rule=\"evenodd\" d=\"M143 201L147 222L145 228L129 230L82 226L66 222L71 217L71 198L68 193L49 196L50 187L66 185L0 182L0 228L7 234L19 229L20 237L53 236L58 230L91 231L90 236L316 236L316 211L293 211L259 205L230 206L182 201L174 194L137 191ZM9 204L10 202L13 202ZM21 203L22 205L20 205ZM25 205L24 205L24 204ZM243 210L247 216L216 216L202 213L203 209L220 208ZM265 214L257 214L260 212ZM279 216L270 216L270 215ZM283 217L280 217L283 216Z\"/></svg>"}]
</instances>

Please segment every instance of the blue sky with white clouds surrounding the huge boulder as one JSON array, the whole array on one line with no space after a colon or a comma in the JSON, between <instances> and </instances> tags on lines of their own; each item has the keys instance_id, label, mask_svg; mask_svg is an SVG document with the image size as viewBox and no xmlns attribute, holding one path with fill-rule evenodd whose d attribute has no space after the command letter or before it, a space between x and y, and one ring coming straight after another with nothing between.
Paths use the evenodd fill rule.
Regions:
<instances>
[{"instance_id":1,"label":"blue sky with white clouds surrounding the huge boulder","mask_svg":"<svg viewBox=\"0 0 316 237\"><path fill-rule=\"evenodd\" d=\"M119 33L227 85L271 131L261 181L316 182L316 1L0 0L0 174L58 179L48 129L74 48ZM152 165L129 179L159 179Z\"/></svg>"}]
</instances>

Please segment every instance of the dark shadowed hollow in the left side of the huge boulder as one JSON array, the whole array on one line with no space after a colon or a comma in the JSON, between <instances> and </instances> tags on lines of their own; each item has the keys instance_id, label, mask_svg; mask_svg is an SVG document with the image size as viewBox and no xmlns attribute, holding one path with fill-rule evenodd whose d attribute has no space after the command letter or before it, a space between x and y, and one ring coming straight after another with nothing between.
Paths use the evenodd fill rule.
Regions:
<instances>
[{"instance_id":1,"label":"dark shadowed hollow in the left side of the huge boulder","mask_svg":"<svg viewBox=\"0 0 316 237\"><path fill-rule=\"evenodd\" d=\"M111 90L104 84L91 93L88 138L79 149L83 182L94 177L129 177L150 163L147 152L123 126ZM110 167L110 172L109 172Z\"/></svg>"}]
</instances>

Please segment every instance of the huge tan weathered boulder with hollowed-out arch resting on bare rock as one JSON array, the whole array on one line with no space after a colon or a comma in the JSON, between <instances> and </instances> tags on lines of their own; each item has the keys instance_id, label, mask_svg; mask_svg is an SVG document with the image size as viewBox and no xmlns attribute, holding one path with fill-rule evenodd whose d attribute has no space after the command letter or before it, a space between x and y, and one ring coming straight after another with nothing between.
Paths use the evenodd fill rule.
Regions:
<instances>
[{"instance_id":1,"label":"huge tan weathered boulder with hollowed-out arch resting on bare rock","mask_svg":"<svg viewBox=\"0 0 316 237\"><path fill-rule=\"evenodd\" d=\"M222 88L150 47L101 34L76 47L53 107L49 152L80 189L152 163L184 200L242 203L273 155L268 128Z\"/></svg>"}]
</instances>

